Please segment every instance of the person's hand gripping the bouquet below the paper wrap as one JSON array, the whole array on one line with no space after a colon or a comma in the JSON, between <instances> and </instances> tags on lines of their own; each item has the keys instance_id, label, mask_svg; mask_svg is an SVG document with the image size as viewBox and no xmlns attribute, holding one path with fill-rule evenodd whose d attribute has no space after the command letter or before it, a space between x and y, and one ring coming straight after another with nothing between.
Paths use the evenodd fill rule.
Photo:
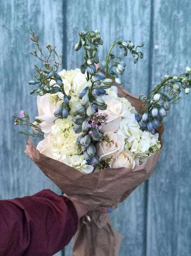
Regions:
<instances>
[{"instance_id":1,"label":"person's hand gripping the bouquet below the paper wrap","mask_svg":"<svg viewBox=\"0 0 191 256\"><path fill-rule=\"evenodd\" d=\"M99 208L99 207L92 207L89 205L86 205L85 203L81 203L79 201L73 200L70 197L68 197L66 194L63 194L63 196L67 197L70 199L70 201L73 203L74 207L76 208L78 218L80 219L83 215L87 214L89 211L99 211L99 212L104 212L108 213L108 209L106 208Z\"/></svg>"}]
</instances>

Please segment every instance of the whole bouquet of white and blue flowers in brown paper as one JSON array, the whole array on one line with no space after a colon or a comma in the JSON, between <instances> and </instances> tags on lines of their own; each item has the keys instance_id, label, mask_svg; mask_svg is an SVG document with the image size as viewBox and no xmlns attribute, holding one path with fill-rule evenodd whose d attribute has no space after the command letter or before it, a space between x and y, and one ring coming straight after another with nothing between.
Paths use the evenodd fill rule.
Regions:
<instances>
[{"instance_id":1,"label":"whole bouquet of white and blue flowers in brown paper","mask_svg":"<svg viewBox=\"0 0 191 256\"><path fill-rule=\"evenodd\" d=\"M62 55L47 45L45 58L39 37L31 31L37 49L30 52L43 61L35 66L39 116L30 123L24 111L15 125L29 125L43 137L37 148L27 141L25 153L70 198L88 205L115 209L135 188L148 179L158 161L163 133L162 119L175 103L181 87L188 94L191 69L180 76L165 76L147 96L139 98L121 88L120 75L126 63L111 53L115 45L128 51L134 63L143 54L132 41L116 41L99 65L97 48L102 45L98 30L83 31L75 46L85 50L80 69L61 70ZM54 54L58 61L49 58ZM120 235L111 227L108 214L90 212L79 223L73 255L118 255ZM111 244L113 246L111 246Z\"/></svg>"}]
</instances>

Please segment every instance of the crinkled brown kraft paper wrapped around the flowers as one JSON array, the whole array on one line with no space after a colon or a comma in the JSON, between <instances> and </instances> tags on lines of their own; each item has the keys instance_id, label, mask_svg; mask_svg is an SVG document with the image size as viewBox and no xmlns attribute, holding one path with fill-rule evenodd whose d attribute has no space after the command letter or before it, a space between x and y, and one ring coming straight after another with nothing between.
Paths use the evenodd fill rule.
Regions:
<instances>
[{"instance_id":1,"label":"crinkled brown kraft paper wrapped around the flowers","mask_svg":"<svg viewBox=\"0 0 191 256\"><path fill-rule=\"evenodd\" d=\"M114 84L116 85L116 84ZM138 98L118 87L118 96L125 97L140 110ZM164 127L158 130L159 140ZM54 160L35 148L30 139L27 140L25 153L39 169L64 191L68 197L91 206L116 209L118 203L126 199L144 180L149 179L157 164L161 149L132 170L125 167L106 168L101 172L83 174L82 172ZM118 256L121 235L111 226L109 214L98 211L89 212L79 222L73 245L73 256Z\"/></svg>"}]
</instances>

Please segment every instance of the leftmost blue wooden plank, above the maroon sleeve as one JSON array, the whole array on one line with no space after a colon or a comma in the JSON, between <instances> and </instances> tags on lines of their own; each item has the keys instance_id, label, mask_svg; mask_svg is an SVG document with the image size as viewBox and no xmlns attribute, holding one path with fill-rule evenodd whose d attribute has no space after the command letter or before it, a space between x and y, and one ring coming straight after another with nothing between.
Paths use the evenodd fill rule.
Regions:
<instances>
[{"instance_id":1,"label":"leftmost blue wooden plank, above the maroon sleeve","mask_svg":"<svg viewBox=\"0 0 191 256\"><path fill-rule=\"evenodd\" d=\"M28 84L34 76L36 60L29 54L34 46L28 39L30 28L39 33L44 49L48 43L57 44L62 53L62 1L7 0L0 1L0 198L32 195L42 189L61 191L24 154L27 137L18 135L12 115L20 109L38 116L36 96ZM29 129L30 130L30 129ZM37 140L33 140L37 143ZM61 252L57 255L61 255Z\"/></svg>"}]
</instances>

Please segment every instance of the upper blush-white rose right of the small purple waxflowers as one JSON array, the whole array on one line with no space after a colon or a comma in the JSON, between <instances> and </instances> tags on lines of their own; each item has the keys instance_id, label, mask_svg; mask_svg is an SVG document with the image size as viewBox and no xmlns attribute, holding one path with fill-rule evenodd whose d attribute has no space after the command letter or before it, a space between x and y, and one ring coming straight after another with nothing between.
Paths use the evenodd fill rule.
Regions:
<instances>
[{"instance_id":1,"label":"upper blush-white rose right of the small purple waxflowers","mask_svg":"<svg viewBox=\"0 0 191 256\"><path fill-rule=\"evenodd\" d=\"M110 95L104 95L102 98L108 107L105 110L99 109L98 113L108 114L109 118L106 125L101 125L102 128L100 131L101 133L115 133L119 129L121 116L125 113L125 107L119 100L112 98Z\"/></svg>"}]
</instances>

